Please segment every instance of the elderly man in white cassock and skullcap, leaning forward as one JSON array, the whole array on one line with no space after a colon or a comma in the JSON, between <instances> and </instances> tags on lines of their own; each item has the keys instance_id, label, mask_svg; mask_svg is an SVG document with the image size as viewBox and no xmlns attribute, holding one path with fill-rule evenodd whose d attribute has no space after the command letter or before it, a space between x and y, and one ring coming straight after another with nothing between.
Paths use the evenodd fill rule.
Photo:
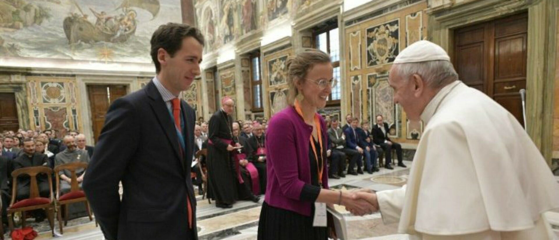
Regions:
<instances>
[{"instance_id":1,"label":"elderly man in white cassock and skullcap, leaning forward","mask_svg":"<svg viewBox=\"0 0 559 240\"><path fill-rule=\"evenodd\" d=\"M390 69L394 101L426 125L408 185L359 193L410 239L555 239L543 218L559 185L513 115L458 80L446 51L418 41Z\"/></svg>"}]
</instances>

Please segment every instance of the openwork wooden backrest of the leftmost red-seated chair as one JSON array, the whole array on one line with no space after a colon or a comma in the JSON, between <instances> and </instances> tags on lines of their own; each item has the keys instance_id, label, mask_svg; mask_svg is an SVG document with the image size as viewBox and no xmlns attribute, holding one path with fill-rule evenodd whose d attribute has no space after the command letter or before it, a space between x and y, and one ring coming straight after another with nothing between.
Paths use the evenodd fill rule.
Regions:
<instances>
[{"instance_id":1,"label":"openwork wooden backrest of the leftmost red-seated chair","mask_svg":"<svg viewBox=\"0 0 559 240\"><path fill-rule=\"evenodd\" d=\"M53 180L51 178L51 175L53 174L53 170L51 170L49 167L43 167L43 166L22 167L12 172L13 186L12 186L12 202L10 206L16 202L17 177L19 177L20 175L29 175L29 177L31 177L31 189L29 190L29 198L32 199L34 197L39 197L39 185L37 185L37 175L39 173L44 173L48 177L49 191L50 191L49 198L50 200L53 200Z\"/></svg>"}]
</instances>

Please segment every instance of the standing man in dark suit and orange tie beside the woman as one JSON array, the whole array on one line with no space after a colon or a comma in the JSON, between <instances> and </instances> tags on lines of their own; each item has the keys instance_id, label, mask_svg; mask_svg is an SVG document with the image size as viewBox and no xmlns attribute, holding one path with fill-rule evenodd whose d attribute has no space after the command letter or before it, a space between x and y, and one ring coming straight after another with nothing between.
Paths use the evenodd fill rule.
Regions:
<instances>
[{"instance_id":1,"label":"standing man in dark suit and orange tie beside the woman","mask_svg":"<svg viewBox=\"0 0 559 240\"><path fill-rule=\"evenodd\" d=\"M83 189L108 240L198 239L190 178L196 116L178 96L200 75L203 42L195 27L159 26L151 37L157 76L107 112Z\"/></svg>"}]
</instances>

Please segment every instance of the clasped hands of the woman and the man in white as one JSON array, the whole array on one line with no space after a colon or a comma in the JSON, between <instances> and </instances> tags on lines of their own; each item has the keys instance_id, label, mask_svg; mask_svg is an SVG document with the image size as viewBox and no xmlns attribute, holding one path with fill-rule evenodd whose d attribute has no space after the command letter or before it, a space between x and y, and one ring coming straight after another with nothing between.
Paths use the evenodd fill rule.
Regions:
<instances>
[{"instance_id":1,"label":"clasped hands of the woman and the man in white","mask_svg":"<svg viewBox=\"0 0 559 240\"><path fill-rule=\"evenodd\" d=\"M343 191L340 203L353 215L362 216L379 210L377 195L370 189Z\"/></svg>"}]
</instances>

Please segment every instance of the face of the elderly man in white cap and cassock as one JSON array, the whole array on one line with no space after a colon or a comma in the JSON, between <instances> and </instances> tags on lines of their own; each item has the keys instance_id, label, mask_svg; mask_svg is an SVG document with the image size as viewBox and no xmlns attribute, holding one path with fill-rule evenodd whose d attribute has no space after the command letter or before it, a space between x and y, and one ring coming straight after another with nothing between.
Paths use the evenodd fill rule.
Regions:
<instances>
[{"instance_id":1,"label":"face of the elderly man in white cap and cassock","mask_svg":"<svg viewBox=\"0 0 559 240\"><path fill-rule=\"evenodd\" d=\"M400 104L404 108L408 119L419 121L421 112L425 108L424 103L420 101L423 90L416 88L416 82L411 77L404 79L399 76L396 70L399 67L397 65L392 65L389 73L389 84L394 90L394 103ZM423 80L419 79L419 81Z\"/></svg>"}]
</instances>

